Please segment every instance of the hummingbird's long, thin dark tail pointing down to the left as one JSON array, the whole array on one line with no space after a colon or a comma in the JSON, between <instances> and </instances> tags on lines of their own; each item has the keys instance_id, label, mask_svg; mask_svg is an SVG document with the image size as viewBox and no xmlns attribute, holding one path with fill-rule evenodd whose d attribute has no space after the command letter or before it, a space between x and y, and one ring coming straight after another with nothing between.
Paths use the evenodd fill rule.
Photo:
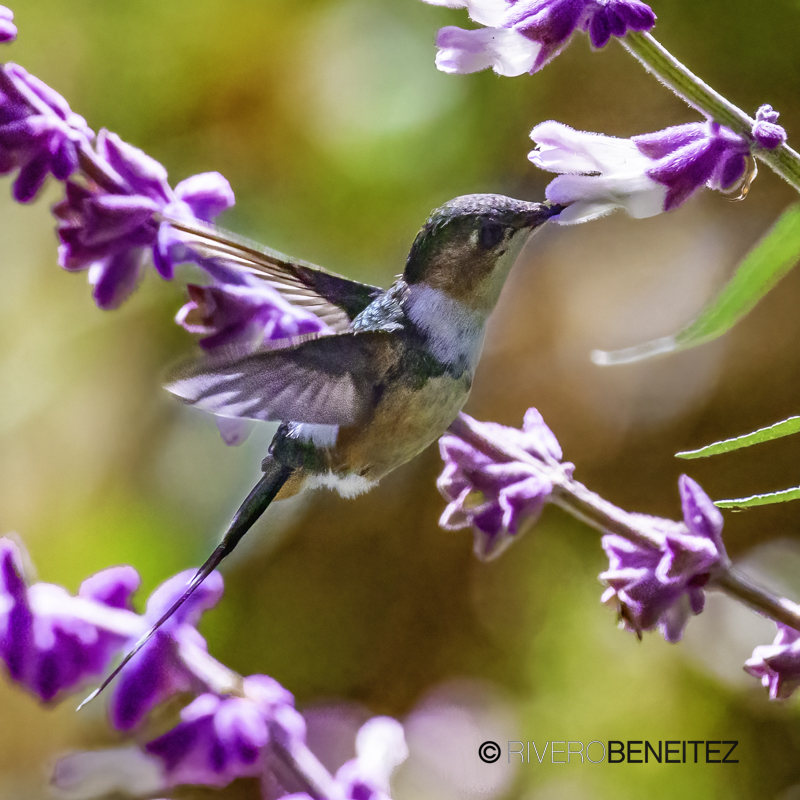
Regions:
<instances>
[{"instance_id":1,"label":"hummingbird's long, thin dark tail pointing down to the left","mask_svg":"<svg viewBox=\"0 0 800 800\"><path fill-rule=\"evenodd\" d=\"M264 475L261 480L253 487L253 490L247 495L241 506L239 506L239 510L234 514L222 541L206 559L203 566L197 570L195 576L186 586L184 593L170 606L158 622L136 642L130 652L122 659L120 664L100 686L78 706L78 710L83 708L83 706L91 700L94 700L94 698L119 675L125 665L150 641L158 629L195 593L198 586L200 586L200 584L219 566L220 562L233 552L236 545L239 544L247 531L250 530L256 520L267 510L269 504L275 499L276 495L286 481L289 480L293 472L294 467L280 464L274 459L265 460Z\"/></svg>"}]
</instances>

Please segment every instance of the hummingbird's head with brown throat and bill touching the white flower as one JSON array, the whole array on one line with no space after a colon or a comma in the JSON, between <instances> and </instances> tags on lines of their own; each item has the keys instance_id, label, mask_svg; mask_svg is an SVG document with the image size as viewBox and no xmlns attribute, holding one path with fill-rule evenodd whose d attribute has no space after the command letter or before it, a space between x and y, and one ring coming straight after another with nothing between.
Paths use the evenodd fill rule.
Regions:
<instances>
[{"instance_id":1,"label":"hummingbird's head with brown throat and bill touching the white flower","mask_svg":"<svg viewBox=\"0 0 800 800\"><path fill-rule=\"evenodd\" d=\"M499 194L456 197L422 227L403 277L489 313L528 237L561 210Z\"/></svg>"}]
</instances>

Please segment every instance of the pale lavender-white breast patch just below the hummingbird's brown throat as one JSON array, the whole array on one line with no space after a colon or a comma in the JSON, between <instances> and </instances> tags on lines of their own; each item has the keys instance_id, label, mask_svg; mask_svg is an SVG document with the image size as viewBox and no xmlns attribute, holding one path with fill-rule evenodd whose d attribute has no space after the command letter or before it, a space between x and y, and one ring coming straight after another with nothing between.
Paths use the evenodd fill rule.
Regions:
<instances>
[{"instance_id":1,"label":"pale lavender-white breast patch just below the hummingbird's brown throat","mask_svg":"<svg viewBox=\"0 0 800 800\"><path fill-rule=\"evenodd\" d=\"M477 365L486 332L484 314L424 283L409 287L406 311L430 337L430 349L436 358L449 364L464 359L470 368Z\"/></svg>"}]
</instances>

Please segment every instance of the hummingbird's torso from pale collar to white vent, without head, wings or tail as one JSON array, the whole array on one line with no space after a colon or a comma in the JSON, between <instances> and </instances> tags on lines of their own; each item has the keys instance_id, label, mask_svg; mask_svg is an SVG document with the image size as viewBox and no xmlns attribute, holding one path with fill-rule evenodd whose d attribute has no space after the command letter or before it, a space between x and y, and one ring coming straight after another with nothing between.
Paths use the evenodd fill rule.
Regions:
<instances>
[{"instance_id":1,"label":"hummingbird's torso from pale collar to white vent, without head, wings or tail","mask_svg":"<svg viewBox=\"0 0 800 800\"><path fill-rule=\"evenodd\" d=\"M389 334L365 369L360 396L369 411L346 426L286 423L271 452L301 467L280 496L327 486L351 497L410 461L458 416L472 387L485 316L441 290L400 279L354 320L359 332ZM380 377L376 379L374 376Z\"/></svg>"}]
</instances>

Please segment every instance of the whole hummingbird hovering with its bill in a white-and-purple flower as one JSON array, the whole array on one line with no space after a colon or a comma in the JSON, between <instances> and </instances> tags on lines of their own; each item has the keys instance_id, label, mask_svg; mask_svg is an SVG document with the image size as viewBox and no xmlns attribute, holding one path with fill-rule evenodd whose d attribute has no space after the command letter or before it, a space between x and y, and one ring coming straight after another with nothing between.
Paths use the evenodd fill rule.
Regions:
<instances>
[{"instance_id":1,"label":"whole hummingbird hovering with its bill in a white-and-purple flower","mask_svg":"<svg viewBox=\"0 0 800 800\"><path fill-rule=\"evenodd\" d=\"M529 236L563 206L496 194L433 211L389 289L358 283L210 224L165 218L204 258L264 280L331 332L205 357L166 388L223 417L280 422L263 475L183 595L85 701L192 595L273 500L316 487L353 497L436 441L469 397L486 322Z\"/></svg>"}]
</instances>

